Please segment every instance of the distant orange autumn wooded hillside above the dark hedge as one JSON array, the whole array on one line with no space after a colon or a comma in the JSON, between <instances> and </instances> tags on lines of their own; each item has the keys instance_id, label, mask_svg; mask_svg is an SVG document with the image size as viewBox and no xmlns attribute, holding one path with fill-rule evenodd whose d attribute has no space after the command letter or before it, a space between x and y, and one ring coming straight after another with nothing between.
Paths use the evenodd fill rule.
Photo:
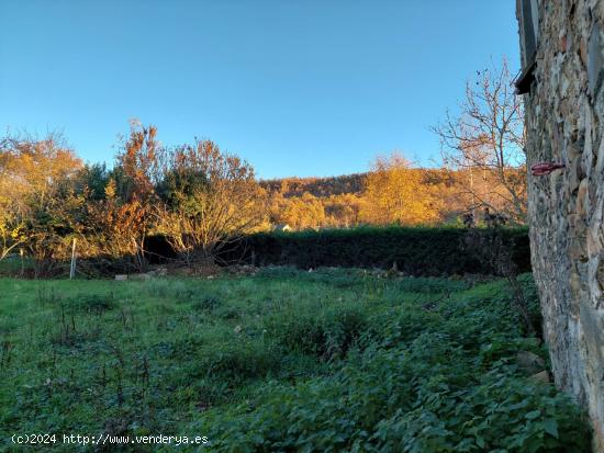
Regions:
<instances>
[{"instance_id":1,"label":"distant orange autumn wooded hillside above the dark hedge","mask_svg":"<svg viewBox=\"0 0 604 453\"><path fill-rule=\"evenodd\" d=\"M506 168L523 181L525 167ZM460 225L466 214L480 222L488 207L523 225L497 185L496 170L472 167L414 168L403 156L378 157L371 171L329 178L260 181L270 200L272 225L292 229L359 225Z\"/></svg>"}]
</instances>

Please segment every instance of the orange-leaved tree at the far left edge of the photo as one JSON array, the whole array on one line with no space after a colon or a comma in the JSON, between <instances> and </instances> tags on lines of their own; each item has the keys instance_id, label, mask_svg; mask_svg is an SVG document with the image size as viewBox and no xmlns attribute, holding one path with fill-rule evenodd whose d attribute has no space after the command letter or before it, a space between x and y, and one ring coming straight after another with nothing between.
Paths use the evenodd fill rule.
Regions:
<instances>
[{"instance_id":1,"label":"orange-leaved tree at the far left edge of the photo","mask_svg":"<svg viewBox=\"0 0 604 453\"><path fill-rule=\"evenodd\" d=\"M74 179L81 161L56 134L10 137L1 144L2 253L23 247L34 258L36 275L49 273L79 234L82 197Z\"/></svg>"}]
</instances>

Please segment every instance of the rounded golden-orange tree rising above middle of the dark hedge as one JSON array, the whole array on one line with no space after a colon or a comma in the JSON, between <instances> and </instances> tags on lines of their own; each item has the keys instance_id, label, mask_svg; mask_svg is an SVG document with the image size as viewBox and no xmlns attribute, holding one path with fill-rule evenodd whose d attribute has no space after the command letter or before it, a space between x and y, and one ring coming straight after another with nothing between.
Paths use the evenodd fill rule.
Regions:
<instances>
[{"instance_id":1,"label":"rounded golden-orange tree rising above middle of the dark hedge","mask_svg":"<svg viewBox=\"0 0 604 453\"><path fill-rule=\"evenodd\" d=\"M362 217L373 224L414 225L438 219L438 201L422 171L399 154L378 157L366 179Z\"/></svg>"}]
</instances>

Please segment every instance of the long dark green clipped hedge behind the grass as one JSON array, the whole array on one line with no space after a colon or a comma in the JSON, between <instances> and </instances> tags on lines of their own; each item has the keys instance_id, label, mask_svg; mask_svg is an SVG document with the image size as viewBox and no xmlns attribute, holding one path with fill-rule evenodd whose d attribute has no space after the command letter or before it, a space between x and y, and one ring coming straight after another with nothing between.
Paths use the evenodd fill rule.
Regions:
<instances>
[{"instance_id":1,"label":"long dark green clipped hedge behind the grass","mask_svg":"<svg viewBox=\"0 0 604 453\"><path fill-rule=\"evenodd\" d=\"M463 250L463 228L362 227L354 229L262 233L248 236L221 258L256 265L294 265L391 269L411 275L492 274ZM530 271L526 228L505 228L521 272Z\"/></svg>"}]
</instances>

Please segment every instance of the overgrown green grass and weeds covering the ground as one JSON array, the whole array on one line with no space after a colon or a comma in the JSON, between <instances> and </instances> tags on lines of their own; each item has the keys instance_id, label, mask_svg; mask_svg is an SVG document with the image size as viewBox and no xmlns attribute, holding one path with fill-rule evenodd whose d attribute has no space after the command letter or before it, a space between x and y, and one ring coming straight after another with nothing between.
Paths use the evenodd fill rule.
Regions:
<instances>
[{"instance_id":1,"label":"overgrown green grass and weeds covering the ground","mask_svg":"<svg viewBox=\"0 0 604 453\"><path fill-rule=\"evenodd\" d=\"M0 450L102 433L209 439L123 451L589 451L579 410L516 363L547 353L508 298L502 281L356 270L2 279ZM41 450L93 451L59 440Z\"/></svg>"}]
</instances>

